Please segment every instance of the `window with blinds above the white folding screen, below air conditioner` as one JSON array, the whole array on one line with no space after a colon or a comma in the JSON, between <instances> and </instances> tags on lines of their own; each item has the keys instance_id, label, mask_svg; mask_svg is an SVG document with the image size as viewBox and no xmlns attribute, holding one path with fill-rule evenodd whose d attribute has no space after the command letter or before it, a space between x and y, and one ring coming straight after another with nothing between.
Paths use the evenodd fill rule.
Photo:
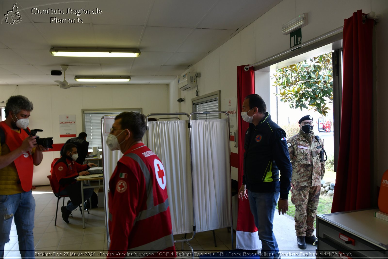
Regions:
<instances>
[{"instance_id":1,"label":"window with blinds above the white folding screen, below air conditioner","mask_svg":"<svg viewBox=\"0 0 388 259\"><path fill-rule=\"evenodd\" d=\"M192 104L193 111L195 112L220 111L220 91L196 97L192 99ZM196 114L197 120L211 120L219 118L220 115L218 113Z\"/></svg>"}]
</instances>

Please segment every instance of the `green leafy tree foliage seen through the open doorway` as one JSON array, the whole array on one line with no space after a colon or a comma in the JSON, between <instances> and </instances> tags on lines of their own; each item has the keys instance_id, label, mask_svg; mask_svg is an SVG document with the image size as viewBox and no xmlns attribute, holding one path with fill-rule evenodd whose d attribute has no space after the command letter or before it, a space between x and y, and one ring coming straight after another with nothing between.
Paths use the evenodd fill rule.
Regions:
<instances>
[{"instance_id":1,"label":"green leafy tree foliage seen through the open doorway","mask_svg":"<svg viewBox=\"0 0 388 259\"><path fill-rule=\"evenodd\" d=\"M326 116L327 104L333 104L332 64L330 52L276 70L274 86L279 87L280 101Z\"/></svg>"}]
</instances>

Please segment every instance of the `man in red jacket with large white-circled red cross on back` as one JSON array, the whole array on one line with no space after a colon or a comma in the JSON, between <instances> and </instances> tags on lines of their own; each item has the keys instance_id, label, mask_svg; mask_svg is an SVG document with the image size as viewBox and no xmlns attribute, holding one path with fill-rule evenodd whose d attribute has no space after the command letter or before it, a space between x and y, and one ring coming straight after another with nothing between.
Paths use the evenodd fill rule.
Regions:
<instances>
[{"instance_id":1,"label":"man in red jacket with large white-circled red cross on back","mask_svg":"<svg viewBox=\"0 0 388 259\"><path fill-rule=\"evenodd\" d=\"M106 140L124 154L109 180L108 258L176 257L165 168L142 143L144 132L144 115L123 112Z\"/></svg>"}]
</instances>

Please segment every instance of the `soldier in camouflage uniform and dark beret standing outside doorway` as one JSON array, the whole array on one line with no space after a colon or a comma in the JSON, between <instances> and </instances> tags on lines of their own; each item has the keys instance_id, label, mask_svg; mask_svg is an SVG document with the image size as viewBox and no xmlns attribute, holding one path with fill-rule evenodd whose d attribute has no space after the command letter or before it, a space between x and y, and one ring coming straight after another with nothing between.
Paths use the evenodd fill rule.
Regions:
<instances>
[{"instance_id":1,"label":"soldier in camouflage uniform and dark beret standing outside doorway","mask_svg":"<svg viewBox=\"0 0 388 259\"><path fill-rule=\"evenodd\" d=\"M295 205L296 237L298 247L306 249L306 243L313 244L317 240L314 221L325 162L319 160L322 144L314 136L312 116L303 116L299 127L299 133L288 139L287 146L293 168L291 202Z\"/></svg>"}]
</instances>

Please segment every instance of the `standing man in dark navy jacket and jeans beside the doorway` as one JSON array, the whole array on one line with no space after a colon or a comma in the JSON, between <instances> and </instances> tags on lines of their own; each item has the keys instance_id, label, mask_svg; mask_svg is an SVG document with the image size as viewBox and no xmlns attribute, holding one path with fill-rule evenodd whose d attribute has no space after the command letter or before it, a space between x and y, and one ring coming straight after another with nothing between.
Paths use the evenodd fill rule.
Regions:
<instances>
[{"instance_id":1,"label":"standing man in dark navy jacket and jeans beside the doorway","mask_svg":"<svg viewBox=\"0 0 388 259\"><path fill-rule=\"evenodd\" d=\"M239 198L249 198L262 241L260 258L277 259L280 258L279 247L272 222L278 200L279 215L288 210L292 167L286 132L271 120L266 110L265 102L257 94L248 95L242 103L241 116L249 122L249 128L245 134L244 175Z\"/></svg>"}]
</instances>

